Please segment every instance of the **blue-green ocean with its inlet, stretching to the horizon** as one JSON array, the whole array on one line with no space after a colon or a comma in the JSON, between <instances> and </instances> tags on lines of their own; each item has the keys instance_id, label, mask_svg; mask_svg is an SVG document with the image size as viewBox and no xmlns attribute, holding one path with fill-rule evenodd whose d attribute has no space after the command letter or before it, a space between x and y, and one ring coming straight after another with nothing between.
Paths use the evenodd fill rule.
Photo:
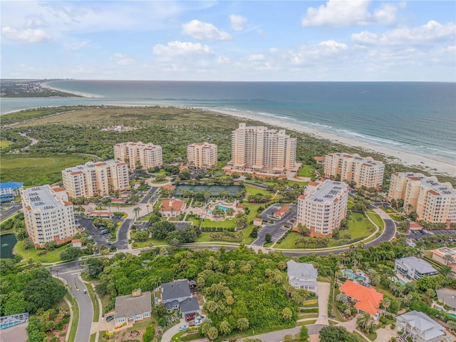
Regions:
<instances>
[{"instance_id":1,"label":"blue-green ocean with its inlet, stretching to the horizon","mask_svg":"<svg viewBox=\"0 0 456 342\"><path fill-rule=\"evenodd\" d=\"M456 160L456 83L52 81L86 98L1 98L1 114L47 105L179 105L299 123Z\"/></svg>"}]
</instances>

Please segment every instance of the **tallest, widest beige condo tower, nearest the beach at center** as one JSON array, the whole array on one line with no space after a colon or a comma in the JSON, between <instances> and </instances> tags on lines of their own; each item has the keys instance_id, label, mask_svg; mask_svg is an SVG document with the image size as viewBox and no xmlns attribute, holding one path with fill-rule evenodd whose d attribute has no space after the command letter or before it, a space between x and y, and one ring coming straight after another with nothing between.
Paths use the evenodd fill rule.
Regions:
<instances>
[{"instance_id":1,"label":"tallest, widest beige condo tower, nearest the beach at center","mask_svg":"<svg viewBox=\"0 0 456 342\"><path fill-rule=\"evenodd\" d=\"M284 173L296 168L296 138L285 130L239 123L232 133L232 170Z\"/></svg>"}]
</instances>

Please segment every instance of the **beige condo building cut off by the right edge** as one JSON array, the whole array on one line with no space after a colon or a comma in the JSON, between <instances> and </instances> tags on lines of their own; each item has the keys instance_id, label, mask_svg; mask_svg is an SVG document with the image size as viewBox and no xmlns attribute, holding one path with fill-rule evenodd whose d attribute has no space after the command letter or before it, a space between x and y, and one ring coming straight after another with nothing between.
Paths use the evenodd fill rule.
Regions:
<instances>
[{"instance_id":1,"label":"beige condo building cut off by the right edge","mask_svg":"<svg viewBox=\"0 0 456 342\"><path fill-rule=\"evenodd\" d=\"M456 191L450 183L420 173L395 172L391 175L388 199L403 199L407 213L432 223L456 222Z\"/></svg>"}]
</instances>

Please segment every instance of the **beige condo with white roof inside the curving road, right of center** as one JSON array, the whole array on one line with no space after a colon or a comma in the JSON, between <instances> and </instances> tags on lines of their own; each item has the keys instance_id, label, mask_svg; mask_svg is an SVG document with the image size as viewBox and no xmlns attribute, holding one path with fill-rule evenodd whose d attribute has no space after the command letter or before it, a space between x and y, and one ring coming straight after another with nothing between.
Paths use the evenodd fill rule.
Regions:
<instances>
[{"instance_id":1,"label":"beige condo with white roof inside the curving road, right of center","mask_svg":"<svg viewBox=\"0 0 456 342\"><path fill-rule=\"evenodd\" d=\"M296 226L310 229L311 237L332 237L347 214L349 187L346 183L325 180L309 182L298 198Z\"/></svg>"}]
</instances>

